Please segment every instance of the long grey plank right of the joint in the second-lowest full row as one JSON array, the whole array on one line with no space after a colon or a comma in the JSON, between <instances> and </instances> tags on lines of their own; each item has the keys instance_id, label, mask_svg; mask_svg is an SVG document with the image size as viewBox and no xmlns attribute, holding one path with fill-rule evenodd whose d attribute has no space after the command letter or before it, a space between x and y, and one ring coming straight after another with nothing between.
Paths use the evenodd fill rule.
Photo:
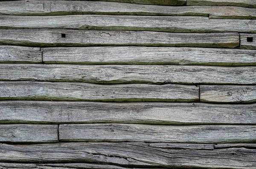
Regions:
<instances>
[{"instance_id":1,"label":"long grey plank right of the joint in the second-lowest full row","mask_svg":"<svg viewBox=\"0 0 256 169\"><path fill-rule=\"evenodd\" d=\"M61 124L61 141L253 143L254 125Z\"/></svg>"}]
</instances>

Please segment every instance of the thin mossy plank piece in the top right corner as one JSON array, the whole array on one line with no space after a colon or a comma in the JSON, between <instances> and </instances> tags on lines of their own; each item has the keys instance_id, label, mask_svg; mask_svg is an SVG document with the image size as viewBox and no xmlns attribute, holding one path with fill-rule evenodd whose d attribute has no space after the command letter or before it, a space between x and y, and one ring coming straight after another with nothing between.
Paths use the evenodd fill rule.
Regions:
<instances>
[{"instance_id":1,"label":"thin mossy plank piece in the top right corner","mask_svg":"<svg viewBox=\"0 0 256 169\"><path fill-rule=\"evenodd\" d=\"M186 5L198 6L242 6L256 8L255 0L187 0Z\"/></svg>"}]
</instances>

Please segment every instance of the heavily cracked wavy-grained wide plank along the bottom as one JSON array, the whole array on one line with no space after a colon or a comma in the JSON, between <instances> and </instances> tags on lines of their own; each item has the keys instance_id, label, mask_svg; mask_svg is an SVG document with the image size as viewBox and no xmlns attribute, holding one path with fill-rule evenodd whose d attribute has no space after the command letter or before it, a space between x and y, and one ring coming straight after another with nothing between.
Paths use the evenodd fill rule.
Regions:
<instances>
[{"instance_id":1,"label":"heavily cracked wavy-grained wide plank along the bottom","mask_svg":"<svg viewBox=\"0 0 256 169\"><path fill-rule=\"evenodd\" d=\"M143 166L143 168L254 169L255 158L256 149L245 148L160 149L149 147L147 143L0 144L0 161L15 163L43 161L43 163L104 163L124 167ZM83 164L80 166L82 167Z\"/></svg>"}]
</instances>

